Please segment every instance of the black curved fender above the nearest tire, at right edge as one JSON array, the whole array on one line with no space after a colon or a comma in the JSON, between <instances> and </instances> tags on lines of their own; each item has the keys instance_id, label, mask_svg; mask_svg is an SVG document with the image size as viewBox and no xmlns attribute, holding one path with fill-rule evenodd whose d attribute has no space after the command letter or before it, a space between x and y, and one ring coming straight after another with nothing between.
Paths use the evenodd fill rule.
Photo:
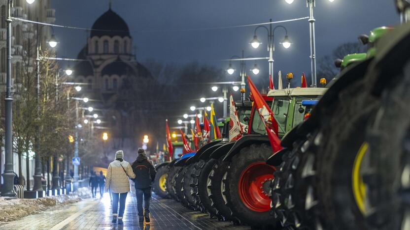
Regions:
<instances>
[{"instance_id":1,"label":"black curved fender above the nearest tire, at right edge","mask_svg":"<svg viewBox=\"0 0 410 230\"><path fill-rule=\"evenodd\" d=\"M410 24L405 23L390 30L377 42L377 52L367 74L371 93L380 96L386 87L400 84L395 76L400 76L403 66L409 61ZM377 76L377 77L375 77Z\"/></svg>"}]
</instances>

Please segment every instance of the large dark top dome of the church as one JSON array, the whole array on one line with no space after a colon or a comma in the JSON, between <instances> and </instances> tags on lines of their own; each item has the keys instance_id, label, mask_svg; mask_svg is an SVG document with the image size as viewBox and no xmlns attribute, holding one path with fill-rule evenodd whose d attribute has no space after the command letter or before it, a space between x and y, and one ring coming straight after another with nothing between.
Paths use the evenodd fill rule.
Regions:
<instances>
[{"instance_id":1,"label":"large dark top dome of the church","mask_svg":"<svg viewBox=\"0 0 410 230\"><path fill-rule=\"evenodd\" d=\"M117 30L117 31L102 31L102 30L91 30L90 37L98 36L102 37L104 35L113 37L131 37L130 30L128 29L127 23L122 19L117 13L109 8L105 13L103 13L94 23L92 29L102 29L102 30ZM122 31L118 31L122 30Z\"/></svg>"}]
</instances>

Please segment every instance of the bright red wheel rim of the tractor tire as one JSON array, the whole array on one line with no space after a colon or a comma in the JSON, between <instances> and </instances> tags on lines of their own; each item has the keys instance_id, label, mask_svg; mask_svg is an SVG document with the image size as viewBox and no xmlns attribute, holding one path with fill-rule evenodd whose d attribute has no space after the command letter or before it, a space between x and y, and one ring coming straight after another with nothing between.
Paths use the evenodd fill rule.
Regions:
<instances>
[{"instance_id":1,"label":"bright red wheel rim of the tractor tire","mask_svg":"<svg viewBox=\"0 0 410 230\"><path fill-rule=\"evenodd\" d=\"M255 212L271 209L271 198L267 196L269 184L275 168L265 162L257 162L246 167L239 177L239 197L243 204ZM264 190L265 189L265 190Z\"/></svg>"}]
</instances>

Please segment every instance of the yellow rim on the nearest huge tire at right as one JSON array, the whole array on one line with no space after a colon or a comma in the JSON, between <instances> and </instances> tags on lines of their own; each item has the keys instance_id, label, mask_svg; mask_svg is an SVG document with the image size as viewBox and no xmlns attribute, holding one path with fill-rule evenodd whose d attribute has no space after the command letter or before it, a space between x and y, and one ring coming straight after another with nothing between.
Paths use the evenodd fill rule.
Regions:
<instances>
[{"instance_id":1,"label":"yellow rim on the nearest huge tire at right","mask_svg":"<svg viewBox=\"0 0 410 230\"><path fill-rule=\"evenodd\" d=\"M366 154L369 145L365 142L360 146L357 152L356 158L353 163L352 171L352 188L353 196L356 201L359 210L365 212L365 198L366 198L366 186L363 183L363 177L360 174L360 166L362 164L363 156Z\"/></svg>"}]
</instances>

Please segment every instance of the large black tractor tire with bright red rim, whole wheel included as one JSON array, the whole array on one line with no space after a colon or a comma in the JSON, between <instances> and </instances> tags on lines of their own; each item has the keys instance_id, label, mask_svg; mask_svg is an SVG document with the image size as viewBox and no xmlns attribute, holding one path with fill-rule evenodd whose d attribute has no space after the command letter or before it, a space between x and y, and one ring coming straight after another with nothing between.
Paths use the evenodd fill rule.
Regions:
<instances>
[{"instance_id":1,"label":"large black tractor tire with bright red rim, whole wheel included","mask_svg":"<svg viewBox=\"0 0 410 230\"><path fill-rule=\"evenodd\" d=\"M274 168L266 164L273 154L268 144L252 144L242 148L232 158L228 169L224 195L232 217L254 228L273 228L268 196Z\"/></svg>"}]
</instances>

